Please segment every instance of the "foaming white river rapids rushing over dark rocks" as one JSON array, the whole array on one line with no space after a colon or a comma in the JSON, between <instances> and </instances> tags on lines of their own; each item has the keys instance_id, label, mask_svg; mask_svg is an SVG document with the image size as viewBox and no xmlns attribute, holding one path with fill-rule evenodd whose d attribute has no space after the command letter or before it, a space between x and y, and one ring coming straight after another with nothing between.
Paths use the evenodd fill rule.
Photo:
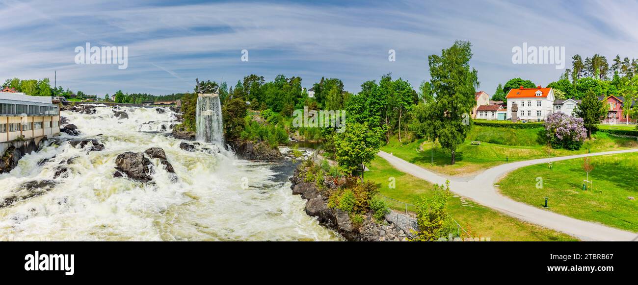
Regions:
<instances>
[{"instance_id":1,"label":"foaming white river rapids rushing over dark rocks","mask_svg":"<svg viewBox=\"0 0 638 285\"><path fill-rule=\"evenodd\" d=\"M24 156L10 173L0 174L0 200L28 181L57 183L40 196L1 207L0 240L340 239L306 215L305 200L292 195L290 182L279 177L280 169L288 165L290 170L286 163L291 162L248 162L223 150L189 152L179 148L179 139L144 132L163 128L140 127L170 122L174 113L168 109L159 114L154 108L126 108L122 111L129 118L122 120L112 116L112 108L96 109L95 115L61 115L77 125L82 132L78 137L100 140L103 151L87 153L68 142L52 144ZM151 147L166 151L177 182L162 167L152 174L155 183L113 177L117 155ZM74 157L69 176L53 179L54 167ZM160 165L158 160L151 162Z\"/></svg>"}]
</instances>

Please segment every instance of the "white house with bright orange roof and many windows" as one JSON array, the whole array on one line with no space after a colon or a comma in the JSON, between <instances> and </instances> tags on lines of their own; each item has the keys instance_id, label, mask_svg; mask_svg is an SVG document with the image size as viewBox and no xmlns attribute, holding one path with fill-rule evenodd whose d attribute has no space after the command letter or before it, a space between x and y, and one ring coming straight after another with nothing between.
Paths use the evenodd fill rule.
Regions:
<instances>
[{"instance_id":1,"label":"white house with bright orange roof and many windows","mask_svg":"<svg viewBox=\"0 0 638 285\"><path fill-rule=\"evenodd\" d=\"M511 89L507 98L507 120L512 118L512 106L518 106L519 120L545 120L554 111L554 91L552 88Z\"/></svg>"}]
</instances>

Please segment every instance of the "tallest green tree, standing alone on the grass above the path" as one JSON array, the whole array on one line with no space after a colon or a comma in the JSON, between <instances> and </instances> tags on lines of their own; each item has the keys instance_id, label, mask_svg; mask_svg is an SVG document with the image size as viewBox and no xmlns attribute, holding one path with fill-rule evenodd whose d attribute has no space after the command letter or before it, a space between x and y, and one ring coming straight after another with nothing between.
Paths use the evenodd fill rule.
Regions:
<instances>
[{"instance_id":1,"label":"tallest green tree, standing alone on the grass above the path","mask_svg":"<svg viewBox=\"0 0 638 285\"><path fill-rule=\"evenodd\" d=\"M432 104L427 123L438 133L441 146L452 154L456 163L456 148L465 141L471 127L468 114L476 101L474 94L479 86L476 69L470 68L471 43L456 41L441 55L430 55L431 83L436 101Z\"/></svg>"}]
</instances>

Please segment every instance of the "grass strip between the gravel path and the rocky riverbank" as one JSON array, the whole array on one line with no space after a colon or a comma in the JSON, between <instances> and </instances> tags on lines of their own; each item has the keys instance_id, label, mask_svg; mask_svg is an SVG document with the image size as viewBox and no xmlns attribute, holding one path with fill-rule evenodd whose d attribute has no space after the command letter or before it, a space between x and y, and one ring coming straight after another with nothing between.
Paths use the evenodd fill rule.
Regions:
<instances>
[{"instance_id":1,"label":"grass strip between the gravel path and the rocky riverbank","mask_svg":"<svg viewBox=\"0 0 638 285\"><path fill-rule=\"evenodd\" d=\"M380 193L384 196L415 204L421 195L432 195L432 184L394 169L390 163L380 157L368 167L370 171L365 179L380 184ZM394 177L396 188L389 188L389 178ZM390 207L404 210L404 204L388 201ZM500 212L483 207L460 197L452 197L448 204L450 214L465 230L477 237L489 237L491 240L577 240L570 235L526 223ZM408 207L408 211L413 211Z\"/></svg>"}]
</instances>

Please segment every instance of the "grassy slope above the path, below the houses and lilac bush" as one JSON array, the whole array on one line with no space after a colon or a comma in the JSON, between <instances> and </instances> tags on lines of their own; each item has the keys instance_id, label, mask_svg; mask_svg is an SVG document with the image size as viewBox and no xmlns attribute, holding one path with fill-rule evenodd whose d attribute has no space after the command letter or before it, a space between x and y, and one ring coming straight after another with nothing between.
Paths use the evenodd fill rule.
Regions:
<instances>
[{"instance_id":1,"label":"grassy slope above the path, below the houses and lilac bush","mask_svg":"<svg viewBox=\"0 0 638 285\"><path fill-rule=\"evenodd\" d=\"M431 143L424 139L402 144L393 137L389 144L382 146L381 149L441 174L468 176L506 162L638 147L635 139L598 132L577 151L550 149L542 141L542 130L542 128L510 129L475 125L466 141L457 148L454 165L450 165L449 151L441 149L437 144L434 144L433 164L431 164ZM480 144L473 145L471 141L480 141Z\"/></svg>"}]
</instances>

